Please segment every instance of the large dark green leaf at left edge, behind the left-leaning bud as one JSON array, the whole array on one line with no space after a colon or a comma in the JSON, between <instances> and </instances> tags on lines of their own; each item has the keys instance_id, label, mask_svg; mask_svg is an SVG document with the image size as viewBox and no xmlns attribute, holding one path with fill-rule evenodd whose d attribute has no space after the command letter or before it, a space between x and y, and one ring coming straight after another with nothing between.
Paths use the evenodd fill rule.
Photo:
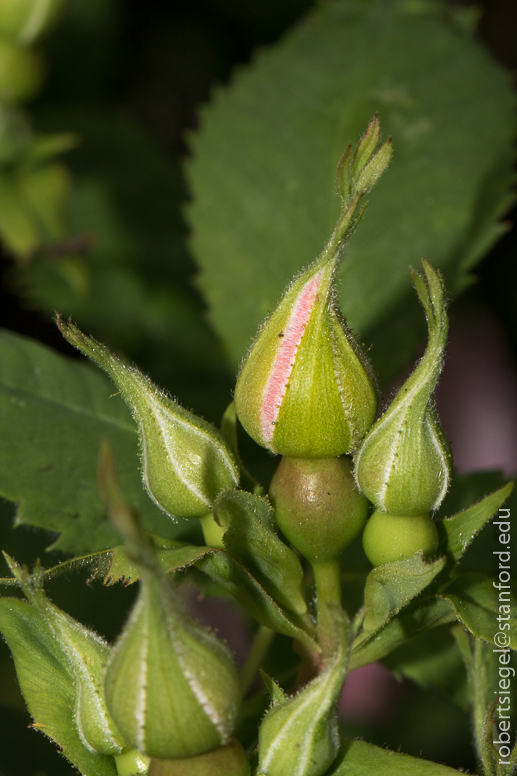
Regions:
<instances>
[{"instance_id":1,"label":"large dark green leaf at left edge, behind the left-leaning bud","mask_svg":"<svg viewBox=\"0 0 517 776\"><path fill-rule=\"evenodd\" d=\"M175 525L144 491L136 426L113 385L88 364L0 332L0 495L17 523L55 531L55 549L84 553L120 543L97 485L101 439L109 440L122 491L144 527Z\"/></svg>"}]
</instances>

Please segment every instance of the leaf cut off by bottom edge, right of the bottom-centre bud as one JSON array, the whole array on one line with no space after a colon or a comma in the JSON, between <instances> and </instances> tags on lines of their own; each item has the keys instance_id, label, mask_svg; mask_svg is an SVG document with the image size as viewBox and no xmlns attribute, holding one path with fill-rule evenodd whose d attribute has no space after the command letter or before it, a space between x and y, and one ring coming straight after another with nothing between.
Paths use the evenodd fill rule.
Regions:
<instances>
[{"instance_id":1,"label":"leaf cut off by bottom edge, right of the bottom-centre bud","mask_svg":"<svg viewBox=\"0 0 517 776\"><path fill-rule=\"evenodd\" d=\"M329 776L458 776L460 771L421 760L401 752L390 752L366 741L345 741L340 764Z\"/></svg>"}]
</instances>

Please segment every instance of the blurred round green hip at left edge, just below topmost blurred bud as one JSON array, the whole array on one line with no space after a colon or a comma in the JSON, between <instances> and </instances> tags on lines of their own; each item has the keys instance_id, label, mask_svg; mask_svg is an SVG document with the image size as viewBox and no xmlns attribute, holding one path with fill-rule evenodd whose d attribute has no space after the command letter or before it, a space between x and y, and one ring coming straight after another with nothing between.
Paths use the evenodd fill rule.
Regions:
<instances>
[{"instance_id":1,"label":"blurred round green hip at left edge, just below topmost blurred bud","mask_svg":"<svg viewBox=\"0 0 517 776\"><path fill-rule=\"evenodd\" d=\"M40 58L33 51L0 40L0 101L30 99L42 81Z\"/></svg>"}]
</instances>

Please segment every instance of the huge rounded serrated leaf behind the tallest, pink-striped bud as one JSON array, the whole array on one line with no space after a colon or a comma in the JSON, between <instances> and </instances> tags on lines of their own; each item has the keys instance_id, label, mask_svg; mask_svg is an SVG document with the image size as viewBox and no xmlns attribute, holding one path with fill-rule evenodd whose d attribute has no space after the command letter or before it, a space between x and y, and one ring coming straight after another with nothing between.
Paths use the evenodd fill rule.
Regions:
<instances>
[{"instance_id":1,"label":"huge rounded serrated leaf behind the tallest, pink-striped bud","mask_svg":"<svg viewBox=\"0 0 517 776\"><path fill-rule=\"evenodd\" d=\"M423 331L408 266L425 256L456 293L500 234L495 220L511 202L509 78L438 2L321 3L218 91L192 141L199 285L234 364L329 238L339 158L375 111L394 159L341 278L345 315L374 343L384 379Z\"/></svg>"}]
</instances>

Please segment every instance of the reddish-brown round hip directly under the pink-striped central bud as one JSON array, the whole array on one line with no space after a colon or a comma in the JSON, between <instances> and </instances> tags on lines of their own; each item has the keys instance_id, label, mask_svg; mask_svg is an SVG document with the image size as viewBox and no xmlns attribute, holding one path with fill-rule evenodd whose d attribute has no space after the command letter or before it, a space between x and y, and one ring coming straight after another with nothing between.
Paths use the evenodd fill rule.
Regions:
<instances>
[{"instance_id":1,"label":"reddish-brown round hip directly under the pink-striped central bud","mask_svg":"<svg viewBox=\"0 0 517 776\"><path fill-rule=\"evenodd\" d=\"M282 458L269 495L281 531L311 562L340 555L368 515L346 457Z\"/></svg>"}]
</instances>

